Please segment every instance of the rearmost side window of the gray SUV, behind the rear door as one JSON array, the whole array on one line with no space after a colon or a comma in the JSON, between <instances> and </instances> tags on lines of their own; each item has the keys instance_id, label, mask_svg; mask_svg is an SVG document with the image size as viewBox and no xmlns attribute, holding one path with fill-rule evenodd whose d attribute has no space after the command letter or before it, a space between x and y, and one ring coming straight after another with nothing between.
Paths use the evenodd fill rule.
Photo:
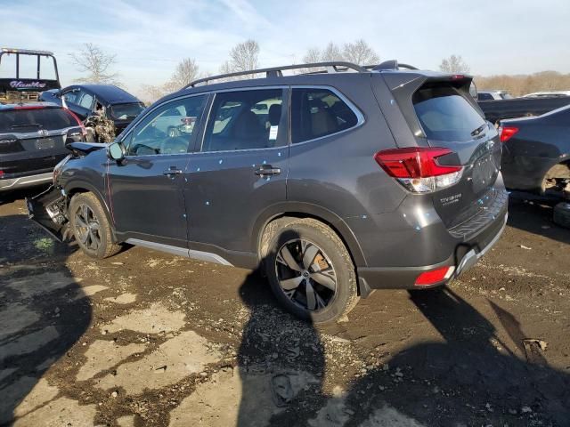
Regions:
<instances>
[{"instance_id":1,"label":"rearmost side window of the gray SUV, behind the rear door","mask_svg":"<svg viewBox=\"0 0 570 427\"><path fill-rule=\"evenodd\" d=\"M354 111L329 89L294 88L291 98L291 141L314 140L358 124Z\"/></svg>"}]
</instances>

